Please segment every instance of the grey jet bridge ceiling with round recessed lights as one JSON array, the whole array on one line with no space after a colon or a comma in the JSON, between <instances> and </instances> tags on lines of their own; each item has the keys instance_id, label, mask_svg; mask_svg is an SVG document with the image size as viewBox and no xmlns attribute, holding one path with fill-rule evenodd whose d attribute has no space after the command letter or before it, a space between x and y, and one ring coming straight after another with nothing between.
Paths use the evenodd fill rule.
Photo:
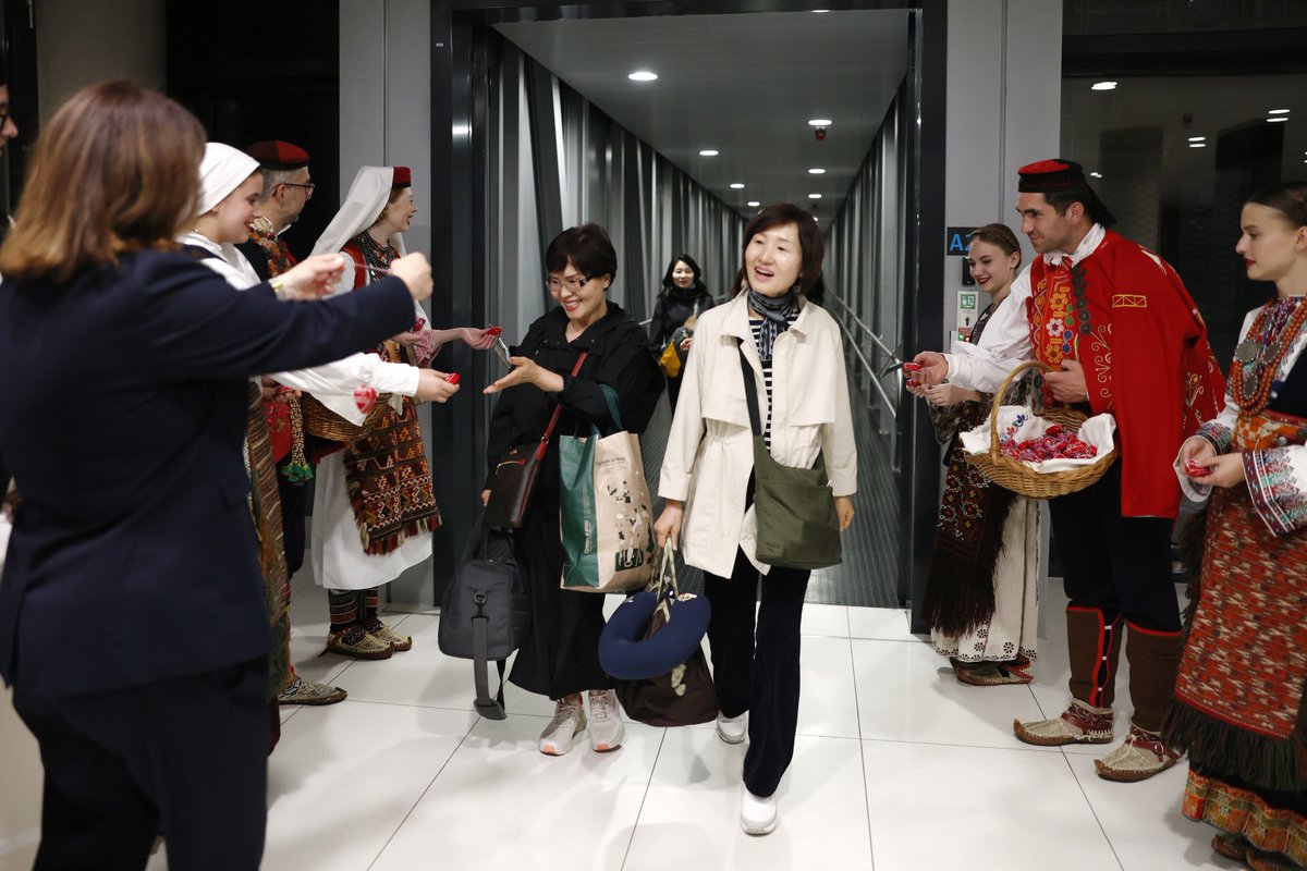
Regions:
<instances>
[{"instance_id":1,"label":"grey jet bridge ceiling with round recessed lights","mask_svg":"<svg viewBox=\"0 0 1307 871\"><path fill-rule=\"evenodd\" d=\"M907 72L901 9L495 27L745 215L750 200L789 200L830 221ZM657 80L627 78L638 71ZM830 119L825 141L812 119ZM707 149L719 154L701 157Z\"/></svg>"}]
</instances>

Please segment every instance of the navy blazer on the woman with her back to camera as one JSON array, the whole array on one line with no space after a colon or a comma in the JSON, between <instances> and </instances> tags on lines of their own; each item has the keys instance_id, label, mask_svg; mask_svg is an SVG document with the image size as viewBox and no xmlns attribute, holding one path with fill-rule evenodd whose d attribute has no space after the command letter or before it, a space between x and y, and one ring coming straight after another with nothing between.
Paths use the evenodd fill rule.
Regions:
<instances>
[{"instance_id":1,"label":"navy blazer on the woman with her back to camera","mask_svg":"<svg viewBox=\"0 0 1307 871\"><path fill-rule=\"evenodd\" d=\"M0 286L0 449L22 491L0 676L47 697L267 654L242 457L250 376L403 332L397 278L315 303L145 251Z\"/></svg>"}]
</instances>

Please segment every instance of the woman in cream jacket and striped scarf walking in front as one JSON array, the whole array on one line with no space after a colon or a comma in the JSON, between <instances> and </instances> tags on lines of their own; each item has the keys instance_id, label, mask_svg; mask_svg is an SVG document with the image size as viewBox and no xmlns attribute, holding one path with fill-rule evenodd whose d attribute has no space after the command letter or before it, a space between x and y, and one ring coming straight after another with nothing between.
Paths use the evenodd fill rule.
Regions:
<instances>
[{"instance_id":1,"label":"woman in cream jacket and striped scarf walking in front","mask_svg":"<svg viewBox=\"0 0 1307 871\"><path fill-rule=\"evenodd\" d=\"M655 530L660 545L669 535L680 541L685 562L704 572L718 735L728 744L749 738L740 821L745 832L766 834L776 825L774 794L795 750L799 624L809 572L766 565L755 555L753 430L741 350L758 387L771 456L804 469L822 456L840 529L853 518L857 453L839 325L804 298L825 255L817 222L779 202L759 210L744 238L748 285L699 316L663 460L659 494L667 507Z\"/></svg>"}]
</instances>

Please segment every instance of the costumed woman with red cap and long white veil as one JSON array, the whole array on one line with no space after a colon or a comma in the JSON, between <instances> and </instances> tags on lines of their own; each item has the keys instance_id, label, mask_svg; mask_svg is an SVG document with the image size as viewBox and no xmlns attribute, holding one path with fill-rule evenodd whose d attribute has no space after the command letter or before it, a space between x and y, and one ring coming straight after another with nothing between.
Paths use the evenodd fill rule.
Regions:
<instances>
[{"instance_id":1,"label":"costumed woman with red cap and long white veil","mask_svg":"<svg viewBox=\"0 0 1307 871\"><path fill-rule=\"evenodd\" d=\"M342 252L353 261L337 293L363 287L404 256L403 234L414 214L406 166L358 171L340 212L314 245L315 255ZM461 338L476 349L494 343L484 329L431 329L420 306L413 317L410 332L369 353L426 370L442 342ZM357 659L387 659L409 650L413 639L378 616L379 585L427 559L431 533L440 525L414 402L396 393L366 435L333 447L318 466L311 535L314 575L327 588L331 605L327 649Z\"/></svg>"}]
</instances>

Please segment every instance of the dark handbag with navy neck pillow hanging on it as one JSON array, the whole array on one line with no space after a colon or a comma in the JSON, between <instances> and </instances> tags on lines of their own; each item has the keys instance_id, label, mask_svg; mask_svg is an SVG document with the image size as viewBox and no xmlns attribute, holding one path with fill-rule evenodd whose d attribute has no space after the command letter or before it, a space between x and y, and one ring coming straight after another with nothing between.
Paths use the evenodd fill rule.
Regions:
<instances>
[{"instance_id":1,"label":"dark handbag with navy neck pillow hanging on it","mask_svg":"<svg viewBox=\"0 0 1307 871\"><path fill-rule=\"evenodd\" d=\"M650 606L652 615L642 620ZM631 611L623 614L623 609ZM701 644L708 616L704 597L681 594L668 545L656 586L623 602L600 639L605 670L613 666L623 674L651 674L670 665L652 678L616 682L617 700L627 717L650 726L693 726L716 720L718 693ZM644 627L639 640L626 637L635 626ZM614 627L612 632L609 627Z\"/></svg>"}]
</instances>

